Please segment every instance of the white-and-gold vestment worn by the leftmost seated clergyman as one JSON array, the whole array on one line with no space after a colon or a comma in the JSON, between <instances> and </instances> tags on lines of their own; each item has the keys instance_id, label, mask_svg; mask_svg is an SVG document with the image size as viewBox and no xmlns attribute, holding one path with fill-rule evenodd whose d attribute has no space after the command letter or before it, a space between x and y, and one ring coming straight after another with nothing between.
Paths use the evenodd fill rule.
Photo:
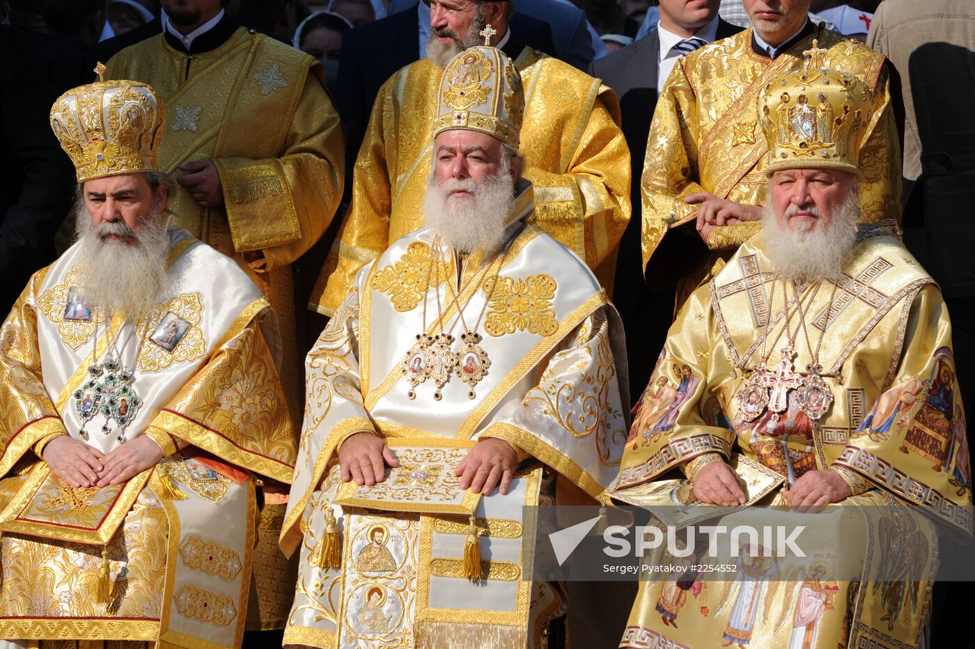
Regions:
<instances>
[{"instance_id":1,"label":"white-and-gold vestment worn by the leftmost seated clergyman","mask_svg":"<svg viewBox=\"0 0 975 649\"><path fill-rule=\"evenodd\" d=\"M233 260L170 232L167 299L134 335L75 288L79 245L34 274L0 328L2 638L240 646L256 485L290 482L294 461L265 344L277 331ZM118 346L120 367L90 369ZM121 422L164 454L127 482L75 488L39 459L81 431L108 453Z\"/></svg>"}]
</instances>

